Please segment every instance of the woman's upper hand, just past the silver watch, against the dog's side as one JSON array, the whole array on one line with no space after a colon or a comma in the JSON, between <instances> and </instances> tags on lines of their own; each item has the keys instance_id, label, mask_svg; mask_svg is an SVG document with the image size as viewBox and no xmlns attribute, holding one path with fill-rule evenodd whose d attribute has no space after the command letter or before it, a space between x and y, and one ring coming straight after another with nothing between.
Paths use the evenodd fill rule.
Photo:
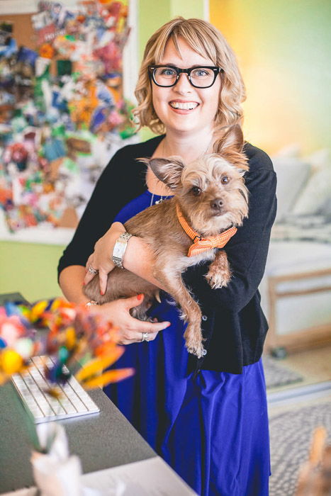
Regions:
<instances>
[{"instance_id":1,"label":"woman's upper hand, just past the silver watch, against the dog's side","mask_svg":"<svg viewBox=\"0 0 331 496\"><path fill-rule=\"evenodd\" d=\"M87 259L84 285L89 283L95 276L95 274L89 272L90 268L99 271L100 292L102 295L106 293L108 274L115 267L112 259L113 247L123 232L125 232L123 224L113 222L106 234L96 242L94 252Z\"/></svg>"}]
</instances>

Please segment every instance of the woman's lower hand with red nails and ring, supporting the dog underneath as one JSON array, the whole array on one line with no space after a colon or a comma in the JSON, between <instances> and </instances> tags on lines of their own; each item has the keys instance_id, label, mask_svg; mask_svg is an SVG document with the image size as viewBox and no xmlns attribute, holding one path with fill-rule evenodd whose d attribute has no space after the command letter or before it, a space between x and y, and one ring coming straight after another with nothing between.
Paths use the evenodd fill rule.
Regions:
<instances>
[{"instance_id":1,"label":"woman's lower hand with red nails and ring, supporting the dog underneath","mask_svg":"<svg viewBox=\"0 0 331 496\"><path fill-rule=\"evenodd\" d=\"M101 313L118 327L120 336L118 344L132 344L142 341L142 333L148 333L148 341L153 341L159 331L169 327L170 322L146 322L135 319L130 315L130 308L137 307L143 301L144 295L121 298L103 305L90 307L92 312Z\"/></svg>"}]
</instances>

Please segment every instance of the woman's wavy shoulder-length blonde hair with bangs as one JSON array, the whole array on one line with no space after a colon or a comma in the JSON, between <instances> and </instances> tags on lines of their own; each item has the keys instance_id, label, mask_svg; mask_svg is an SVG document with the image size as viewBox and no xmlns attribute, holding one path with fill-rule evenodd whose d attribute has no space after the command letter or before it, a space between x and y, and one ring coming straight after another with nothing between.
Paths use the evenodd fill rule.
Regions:
<instances>
[{"instance_id":1,"label":"woman's wavy shoulder-length blonde hair with bangs","mask_svg":"<svg viewBox=\"0 0 331 496\"><path fill-rule=\"evenodd\" d=\"M146 125L156 134L164 133L164 125L152 104L148 66L158 64L162 60L169 40L173 41L179 52L179 38L183 38L199 55L211 59L215 66L223 69L223 72L220 72L222 86L218 112L215 116L215 130L235 124L242 125L241 103L246 98L245 85L230 45L211 23L202 19L176 17L159 28L147 41L135 88L138 106L134 109L133 115L138 128Z\"/></svg>"}]
</instances>

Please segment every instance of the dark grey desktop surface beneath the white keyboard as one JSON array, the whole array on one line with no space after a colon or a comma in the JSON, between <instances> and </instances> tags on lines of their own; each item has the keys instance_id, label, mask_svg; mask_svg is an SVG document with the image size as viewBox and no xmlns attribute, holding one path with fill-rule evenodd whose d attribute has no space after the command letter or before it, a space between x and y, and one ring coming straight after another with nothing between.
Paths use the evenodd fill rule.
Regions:
<instances>
[{"instance_id":1,"label":"dark grey desktop surface beneath the white keyboard","mask_svg":"<svg viewBox=\"0 0 331 496\"><path fill-rule=\"evenodd\" d=\"M0 298L1 305L1 298ZM89 392L100 413L67 420L71 454L84 473L157 456L102 390ZM0 387L0 493L34 485L30 453L33 421L11 382Z\"/></svg>"}]
</instances>

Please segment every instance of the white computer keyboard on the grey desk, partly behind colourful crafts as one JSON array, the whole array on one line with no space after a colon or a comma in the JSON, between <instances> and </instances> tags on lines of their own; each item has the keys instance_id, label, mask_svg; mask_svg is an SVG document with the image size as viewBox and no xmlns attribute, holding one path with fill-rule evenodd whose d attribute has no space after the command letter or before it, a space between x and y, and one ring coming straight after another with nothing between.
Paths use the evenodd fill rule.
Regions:
<instances>
[{"instance_id":1,"label":"white computer keyboard on the grey desk, partly behind colourful crafts","mask_svg":"<svg viewBox=\"0 0 331 496\"><path fill-rule=\"evenodd\" d=\"M52 387L52 383L45 378L44 369L45 366L52 366L52 359L48 356L34 356L32 362L33 366L28 371L13 374L12 381L23 405L33 415L35 424L100 412L73 376L67 383L58 386L62 391L59 399L47 395L45 390ZM65 366L64 371L67 371Z\"/></svg>"}]
</instances>

